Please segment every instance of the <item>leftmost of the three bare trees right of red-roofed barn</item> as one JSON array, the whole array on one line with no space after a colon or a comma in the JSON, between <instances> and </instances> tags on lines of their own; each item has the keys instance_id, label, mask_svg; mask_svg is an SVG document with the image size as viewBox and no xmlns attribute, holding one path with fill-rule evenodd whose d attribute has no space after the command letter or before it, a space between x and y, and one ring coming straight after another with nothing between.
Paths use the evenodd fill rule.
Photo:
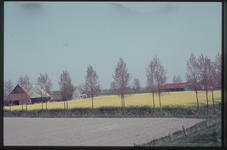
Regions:
<instances>
[{"instance_id":1,"label":"leftmost of the three bare trees right of red-roofed barn","mask_svg":"<svg viewBox=\"0 0 227 150\"><path fill-rule=\"evenodd\" d=\"M191 53L189 60L186 64L187 72L185 73L186 81L189 82L196 93L197 100L197 110L199 111L199 99L198 99L198 90L201 89L200 86L200 70L198 60L196 56Z\"/></svg>"}]
</instances>

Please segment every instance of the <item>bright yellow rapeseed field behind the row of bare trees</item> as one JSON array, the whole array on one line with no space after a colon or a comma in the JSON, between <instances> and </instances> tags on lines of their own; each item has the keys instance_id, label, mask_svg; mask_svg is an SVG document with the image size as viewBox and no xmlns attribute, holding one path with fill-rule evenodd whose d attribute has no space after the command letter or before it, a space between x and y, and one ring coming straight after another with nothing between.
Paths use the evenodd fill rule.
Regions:
<instances>
[{"instance_id":1,"label":"bright yellow rapeseed field behind the row of bare trees","mask_svg":"<svg viewBox=\"0 0 227 150\"><path fill-rule=\"evenodd\" d=\"M212 94L209 92L209 104L212 104ZM155 95L155 107L159 107L159 97ZM199 105L204 106L206 102L205 92L198 93ZM221 102L221 91L214 91L214 101L215 103ZM194 91L181 91L181 92L169 92L164 93L161 96L162 107L188 107L188 106L197 106L196 94ZM152 94L132 94L125 98L126 107L130 106L150 106L153 107L153 97ZM24 110L26 105L23 106ZM91 98L87 99L78 99L68 101L68 108L91 108L92 100ZM94 108L99 107L121 107L121 99L119 96L99 96L94 97ZM4 109L9 110L9 107L4 107ZM11 110L21 110L22 105L12 106ZM42 109L42 104L27 105L27 110ZM43 103L43 109L46 109L46 103ZM47 103L47 109L64 109L64 102L51 102Z\"/></svg>"}]
</instances>

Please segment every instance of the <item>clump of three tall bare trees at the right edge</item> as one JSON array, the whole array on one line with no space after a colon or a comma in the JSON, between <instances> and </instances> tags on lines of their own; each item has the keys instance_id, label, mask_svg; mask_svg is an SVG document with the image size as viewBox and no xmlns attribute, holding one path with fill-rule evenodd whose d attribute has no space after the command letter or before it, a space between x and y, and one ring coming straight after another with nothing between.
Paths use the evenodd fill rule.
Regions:
<instances>
[{"instance_id":1,"label":"clump of three tall bare trees at the right edge","mask_svg":"<svg viewBox=\"0 0 227 150\"><path fill-rule=\"evenodd\" d=\"M196 93L197 110L199 111L198 91L202 90L206 93L207 114L208 108L208 92L212 92L212 101L214 109L215 89L221 89L221 55L218 53L215 60L212 61L208 56L201 54L198 58L191 53L187 61L187 72L185 74L187 82L191 83L193 90Z\"/></svg>"}]
</instances>

